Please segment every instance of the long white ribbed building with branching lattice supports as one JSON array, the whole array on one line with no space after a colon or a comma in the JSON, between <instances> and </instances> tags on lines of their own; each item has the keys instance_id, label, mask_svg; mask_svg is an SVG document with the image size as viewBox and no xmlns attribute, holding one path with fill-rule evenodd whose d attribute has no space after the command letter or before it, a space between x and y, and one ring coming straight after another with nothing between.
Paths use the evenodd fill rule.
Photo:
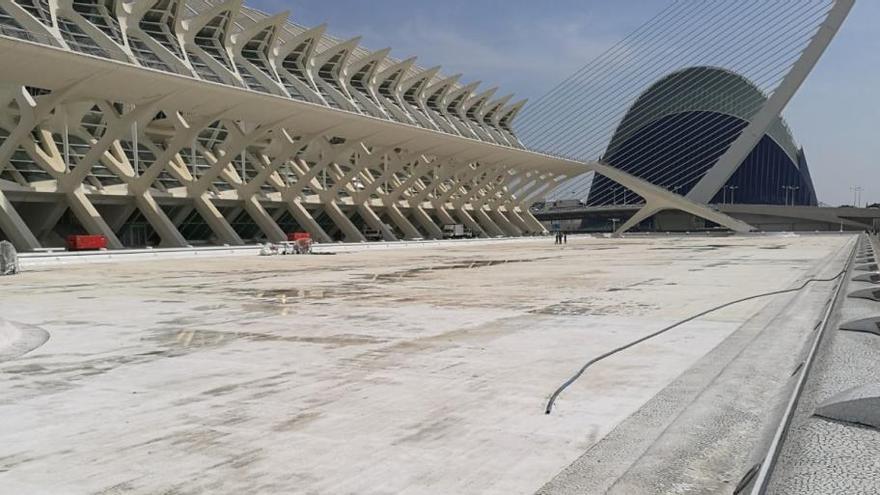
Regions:
<instances>
[{"instance_id":1,"label":"long white ribbed building with branching lattice supports","mask_svg":"<svg viewBox=\"0 0 880 495\"><path fill-rule=\"evenodd\" d=\"M237 1L0 0L0 238L112 248L544 233L528 205L598 163L523 149L524 102Z\"/></svg>"}]
</instances>

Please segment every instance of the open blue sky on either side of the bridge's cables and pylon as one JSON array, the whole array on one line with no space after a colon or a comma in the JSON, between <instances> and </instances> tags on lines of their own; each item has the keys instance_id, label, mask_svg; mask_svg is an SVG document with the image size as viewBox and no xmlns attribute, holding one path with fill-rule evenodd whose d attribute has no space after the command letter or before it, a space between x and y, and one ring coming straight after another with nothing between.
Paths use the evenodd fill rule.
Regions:
<instances>
[{"instance_id":1,"label":"open blue sky on either side of the bridge's cables and pylon","mask_svg":"<svg viewBox=\"0 0 880 495\"><path fill-rule=\"evenodd\" d=\"M736 0L726 0L736 1ZM652 15L667 0L249 0L323 22L338 37L363 36L371 49L418 56L425 67L464 74L537 99ZM821 201L880 202L880 1L857 0L840 35L785 112L804 146Z\"/></svg>"}]
</instances>

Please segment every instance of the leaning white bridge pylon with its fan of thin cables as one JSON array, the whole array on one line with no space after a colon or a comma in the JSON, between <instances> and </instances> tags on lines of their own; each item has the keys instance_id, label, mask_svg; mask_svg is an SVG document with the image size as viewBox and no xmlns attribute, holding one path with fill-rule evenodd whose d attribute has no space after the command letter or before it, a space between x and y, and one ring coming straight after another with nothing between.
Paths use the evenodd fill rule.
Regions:
<instances>
[{"instance_id":1,"label":"leaning white bridge pylon with its fan of thin cables","mask_svg":"<svg viewBox=\"0 0 880 495\"><path fill-rule=\"evenodd\" d=\"M854 4L670 2L526 108L517 121L517 135L531 149L583 162L586 169L641 196L644 207L618 233L666 209L743 230L744 224L719 216L707 204L765 136L790 135L782 112ZM673 77L681 74L688 77ZM742 127L719 127L713 121L718 114L738 119ZM681 120L663 120L673 117ZM669 143L669 151L655 153L657 143ZM796 155L793 140L791 148ZM770 166L764 163L760 165ZM618 188L604 180L594 191L591 178L575 176L547 191L544 199L604 205L609 194L616 197ZM761 182L766 179L757 175L737 180L748 181L749 190L766 187ZM664 188L675 192L660 190ZM632 196L625 201L641 204Z\"/></svg>"}]
</instances>

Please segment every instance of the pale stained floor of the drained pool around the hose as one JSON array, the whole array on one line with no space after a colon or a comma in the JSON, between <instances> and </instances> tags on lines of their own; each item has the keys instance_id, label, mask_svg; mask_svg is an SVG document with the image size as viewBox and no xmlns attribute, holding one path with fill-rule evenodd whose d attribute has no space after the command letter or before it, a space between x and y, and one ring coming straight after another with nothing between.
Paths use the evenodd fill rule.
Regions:
<instances>
[{"instance_id":1,"label":"pale stained floor of the drained pool around the hose","mask_svg":"<svg viewBox=\"0 0 880 495\"><path fill-rule=\"evenodd\" d=\"M849 240L524 240L0 278L0 491L532 493L768 300L603 362L545 415L584 362L789 287Z\"/></svg>"}]
</instances>

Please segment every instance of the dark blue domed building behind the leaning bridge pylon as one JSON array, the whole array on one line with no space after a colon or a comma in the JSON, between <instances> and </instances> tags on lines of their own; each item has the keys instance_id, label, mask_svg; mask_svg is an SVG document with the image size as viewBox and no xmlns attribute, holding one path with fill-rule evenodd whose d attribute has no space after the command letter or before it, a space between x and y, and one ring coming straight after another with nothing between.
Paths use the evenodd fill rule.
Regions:
<instances>
[{"instance_id":1,"label":"dark blue domed building behind the leaning bridge pylon","mask_svg":"<svg viewBox=\"0 0 880 495\"><path fill-rule=\"evenodd\" d=\"M692 68L649 88L623 118L602 161L676 194L687 195L739 137L766 98L744 78ZM589 206L641 204L641 197L599 175ZM803 150L782 119L770 126L714 204L818 204Z\"/></svg>"}]
</instances>

